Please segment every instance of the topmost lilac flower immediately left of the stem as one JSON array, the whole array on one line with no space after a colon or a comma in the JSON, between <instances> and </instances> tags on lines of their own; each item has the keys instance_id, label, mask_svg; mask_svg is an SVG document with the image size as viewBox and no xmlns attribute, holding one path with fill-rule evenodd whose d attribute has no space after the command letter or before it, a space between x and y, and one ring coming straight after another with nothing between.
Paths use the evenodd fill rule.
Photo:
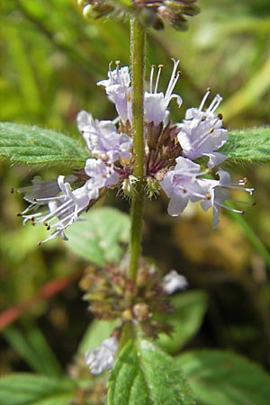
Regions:
<instances>
[{"instance_id":1,"label":"topmost lilac flower immediately left of the stem","mask_svg":"<svg viewBox=\"0 0 270 405\"><path fill-rule=\"evenodd\" d=\"M109 100L115 104L115 108L121 118L121 121L131 122L131 87L129 67L119 67L116 62L116 69L112 70L112 63L109 65L108 79L97 82L97 85L103 85Z\"/></svg>"}]
</instances>

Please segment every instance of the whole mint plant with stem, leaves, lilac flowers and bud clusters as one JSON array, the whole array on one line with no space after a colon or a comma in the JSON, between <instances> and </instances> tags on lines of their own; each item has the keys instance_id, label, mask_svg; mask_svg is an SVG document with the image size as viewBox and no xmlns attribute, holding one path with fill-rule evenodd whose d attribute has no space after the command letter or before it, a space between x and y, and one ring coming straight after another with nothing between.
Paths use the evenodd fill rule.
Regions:
<instances>
[{"instance_id":1,"label":"whole mint plant with stem, leaves, lilac flowers and bud clusters","mask_svg":"<svg viewBox=\"0 0 270 405\"><path fill-rule=\"evenodd\" d=\"M223 127L222 114L218 112L222 97L220 94L211 97L210 89L198 107L185 111L183 121L170 119L172 100L179 108L184 106L176 90L181 76L179 61L173 59L166 90L160 91L159 78L164 67L152 66L149 72L146 68L147 32L149 27L161 29L166 23L183 30L186 16L198 12L196 1L80 0L78 4L87 18L105 15L112 18L129 15L130 18L130 67L121 67L119 61L115 61L114 67L111 62L107 78L97 83L104 87L108 99L114 103L115 118L99 121L90 112L78 112L77 127L85 148L67 135L52 130L2 123L0 148L2 156L14 162L49 164L72 161L77 165L69 175L59 173L57 178L49 180L36 176L31 185L14 190L22 193L23 199L29 203L19 214L23 225L44 226L49 233L39 244L56 237L70 239L67 243L72 244L73 229L76 233L80 227L88 229L91 234L93 224L89 223L88 227L83 214L89 211L91 215L95 210L98 220L94 227L102 230L97 245L112 244L115 248L111 259L103 252L99 258L94 252L93 258L90 243L87 247L89 236L75 248L83 250L83 256L96 265L87 268L81 280L84 299L89 302L96 320L90 326L90 338L82 344L84 349L79 349L79 352L84 351L85 367L88 366L90 374L108 377L107 382L102 380L106 394L100 395L100 402L93 403L265 405L270 395L267 388L270 378L258 365L250 365L247 360L232 354L211 351L192 352L180 358L166 353L174 351L167 350L166 339L171 339L170 348L185 343L184 332L177 330L174 313L181 315L181 299L188 298L184 295L186 293L181 293L179 301L178 295L172 294L183 291L188 283L175 270L168 269L167 274L162 275L156 264L143 257L142 226L145 200L157 198L159 193L168 197L167 211L171 216L180 215L189 202L200 202L203 211L211 209L214 229L219 224L221 209L243 214L242 209L231 206L230 190L239 189L252 195L254 189L247 187L246 177L231 180L229 172L220 165L227 158L268 161L269 130L229 133ZM256 137L257 133L260 135ZM127 241L122 229L117 229L116 223L112 223L112 234L110 230L104 231L103 213L98 212L103 209L94 209L94 204L108 190L114 190L130 201L130 219L121 217L120 212L106 211L107 216L112 215L115 222L121 221L122 228L128 229L126 250L119 247L122 239ZM252 197L243 203L252 205ZM113 235L115 229L116 236ZM92 241L94 244L94 238ZM205 297L199 294L195 298L204 308ZM103 322L109 322L106 336L103 336ZM186 339L196 329L195 325L186 333ZM99 343L95 347L90 345L91 332ZM201 362L199 371L196 359ZM217 382L212 375L215 373L211 370L211 361ZM247 366L247 373L254 374L253 382L262 386L262 390L248 390L247 385L243 387L237 378L229 383L233 386L231 391L226 385L220 388L219 376L230 365L232 374L237 376L245 375ZM203 370L212 373L211 383L208 382L210 388L203 385L207 380ZM21 395L14 394L15 386ZM53 378L10 375L0 381L0 403L90 404L89 392L95 389L95 381L90 377L89 381L86 378L63 378L58 385ZM211 394L208 395L208 390L213 392L214 400ZM77 392L82 392L83 400L77 399Z\"/></svg>"}]
</instances>

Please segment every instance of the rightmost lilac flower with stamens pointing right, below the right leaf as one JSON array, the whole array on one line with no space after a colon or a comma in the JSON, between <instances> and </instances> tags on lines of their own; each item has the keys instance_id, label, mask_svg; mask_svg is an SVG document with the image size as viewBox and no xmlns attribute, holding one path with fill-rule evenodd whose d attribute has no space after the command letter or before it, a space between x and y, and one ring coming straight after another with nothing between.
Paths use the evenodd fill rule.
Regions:
<instances>
[{"instance_id":1,"label":"rightmost lilac flower with stamens pointing right, below the right leaf","mask_svg":"<svg viewBox=\"0 0 270 405\"><path fill-rule=\"evenodd\" d=\"M233 182L230 180L230 175L225 170L220 170L217 172L220 177L220 180L211 180L211 179L201 179L202 188L209 193L211 198L205 199L201 202L202 209L207 211L210 207L213 210L212 216L212 227L216 229L219 225L219 215L220 215L220 208L226 208L229 211L238 212L238 213L245 213L242 210L236 210L234 208L225 205L224 202L232 201L229 198L229 189L237 189L243 190L252 195L254 192L253 188L245 187L247 183L247 179L239 180L237 182ZM246 203L246 202L242 202ZM248 203L248 202L247 202Z\"/></svg>"}]
</instances>

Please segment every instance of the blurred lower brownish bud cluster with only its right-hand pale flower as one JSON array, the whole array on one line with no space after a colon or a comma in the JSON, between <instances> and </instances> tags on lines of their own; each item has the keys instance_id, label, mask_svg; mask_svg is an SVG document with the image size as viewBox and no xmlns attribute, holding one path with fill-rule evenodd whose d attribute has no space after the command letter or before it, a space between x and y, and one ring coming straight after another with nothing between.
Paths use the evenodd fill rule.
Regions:
<instances>
[{"instance_id":1,"label":"blurred lower brownish bud cluster with only its right-hand pale flower","mask_svg":"<svg viewBox=\"0 0 270 405\"><path fill-rule=\"evenodd\" d=\"M187 286L184 276L172 270L160 281L157 267L141 258L135 284L127 277L126 266L124 258L118 266L86 269L80 286L85 291L84 300L89 302L89 311L99 320L139 323L151 337L156 337L158 331L169 331L170 326L160 322L159 317L173 311L167 295Z\"/></svg>"}]
</instances>

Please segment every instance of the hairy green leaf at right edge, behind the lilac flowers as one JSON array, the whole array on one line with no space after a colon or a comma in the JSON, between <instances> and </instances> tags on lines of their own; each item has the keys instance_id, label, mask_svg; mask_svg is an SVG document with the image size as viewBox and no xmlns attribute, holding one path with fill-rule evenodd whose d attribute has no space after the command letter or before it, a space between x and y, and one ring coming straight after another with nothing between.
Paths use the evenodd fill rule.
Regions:
<instances>
[{"instance_id":1,"label":"hairy green leaf at right edge, behind the lilac flowers","mask_svg":"<svg viewBox=\"0 0 270 405\"><path fill-rule=\"evenodd\" d=\"M219 152L233 160L269 162L270 127L229 131L229 140Z\"/></svg>"}]
</instances>

